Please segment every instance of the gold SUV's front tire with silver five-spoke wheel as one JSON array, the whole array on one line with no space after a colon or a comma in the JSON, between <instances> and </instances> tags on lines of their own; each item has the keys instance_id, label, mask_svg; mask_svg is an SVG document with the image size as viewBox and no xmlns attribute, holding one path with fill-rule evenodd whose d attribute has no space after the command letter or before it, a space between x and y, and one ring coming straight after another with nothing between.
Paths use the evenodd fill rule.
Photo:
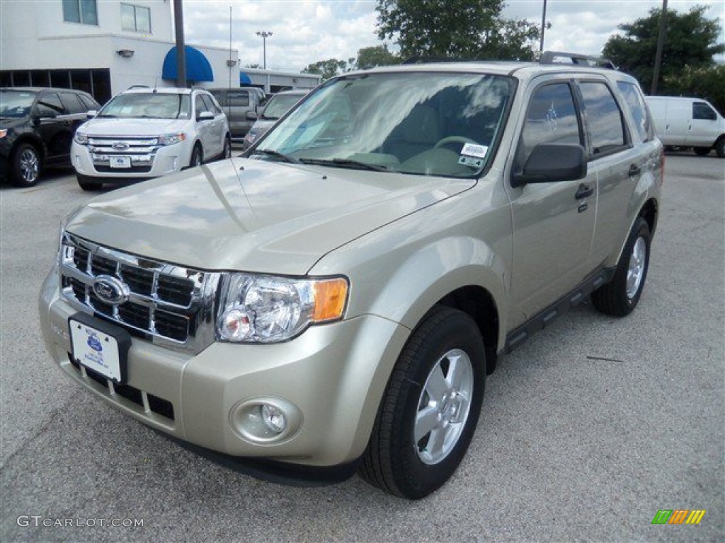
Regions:
<instances>
[{"instance_id":1,"label":"gold SUV's front tire with silver five-spoke wheel","mask_svg":"<svg viewBox=\"0 0 725 543\"><path fill-rule=\"evenodd\" d=\"M463 311L434 308L393 369L360 476L411 500L439 489L471 443L485 381L476 323Z\"/></svg>"}]
</instances>

